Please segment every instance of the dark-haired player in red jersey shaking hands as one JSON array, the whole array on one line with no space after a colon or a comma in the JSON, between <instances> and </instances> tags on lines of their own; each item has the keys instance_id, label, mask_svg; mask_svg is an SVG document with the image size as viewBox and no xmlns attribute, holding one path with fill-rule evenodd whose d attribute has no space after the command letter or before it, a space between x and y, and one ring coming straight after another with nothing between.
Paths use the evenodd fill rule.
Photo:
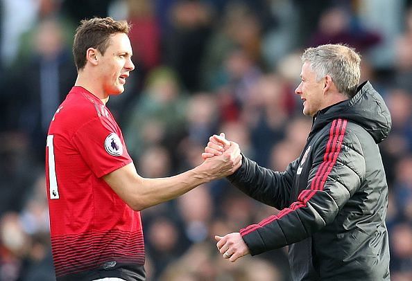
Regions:
<instances>
[{"instance_id":1,"label":"dark-haired player in red jersey shaking hands","mask_svg":"<svg viewBox=\"0 0 412 281\"><path fill-rule=\"evenodd\" d=\"M145 280L140 212L241 164L239 147L177 176L137 174L107 107L135 69L126 22L82 21L74 37L78 77L46 143L51 245L57 280ZM226 148L228 148L226 147ZM109 279L108 279L109 278Z\"/></svg>"}]
</instances>

